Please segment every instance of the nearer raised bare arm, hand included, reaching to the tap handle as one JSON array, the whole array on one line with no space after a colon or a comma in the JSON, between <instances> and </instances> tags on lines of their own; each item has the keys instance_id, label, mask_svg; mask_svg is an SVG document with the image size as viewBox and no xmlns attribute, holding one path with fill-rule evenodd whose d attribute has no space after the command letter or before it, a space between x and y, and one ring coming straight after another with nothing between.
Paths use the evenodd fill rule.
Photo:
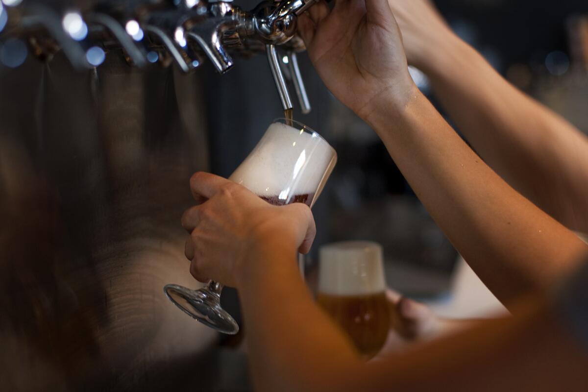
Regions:
<instances>
[{"instance_id":1,"label":"nearer raised bare arm, hand included, reaching to the tap handle","mask_svg":"<svg viewBox=\"0 0 588 392\"><path fill-rule=\"evenodd\" d=\"M338 0L332 11L319 2L299 18L299 31L326 86L376 130L430 215L503 303L548 286L588 251L490 169L420 93L385 0Z\"/></svg>"}]
</instances>

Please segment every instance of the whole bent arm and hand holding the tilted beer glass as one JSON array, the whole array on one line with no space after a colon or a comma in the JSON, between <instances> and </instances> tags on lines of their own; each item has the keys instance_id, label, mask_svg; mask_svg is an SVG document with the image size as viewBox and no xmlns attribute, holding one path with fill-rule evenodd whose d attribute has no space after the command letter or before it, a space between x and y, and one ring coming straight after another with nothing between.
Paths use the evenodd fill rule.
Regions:
<instances>
[{"instance_id":1,"label":"whole bent arm and hand holding the tilted beer glass","mask_svg":"<svg viewBox=\"0 0 588 392\"><path fill-rule=\"evenodd\" d=\"M296 266L296 251L308 250L315 233L309 208L269 205L206 173L195 175L191 185L195 195L208 199L182 219L192 232L186 243L191 272L199 280L212 278L238 289L256 390L573 391L585 385L588 336L583 349L560 324L556 307L540 296L517 304L509 319L365 363L313 302ZM576 304L584 311L580 321L588 316L579 297L588 269L583 279L557 307L573 310Z\"/></svg>"}]
</instances>

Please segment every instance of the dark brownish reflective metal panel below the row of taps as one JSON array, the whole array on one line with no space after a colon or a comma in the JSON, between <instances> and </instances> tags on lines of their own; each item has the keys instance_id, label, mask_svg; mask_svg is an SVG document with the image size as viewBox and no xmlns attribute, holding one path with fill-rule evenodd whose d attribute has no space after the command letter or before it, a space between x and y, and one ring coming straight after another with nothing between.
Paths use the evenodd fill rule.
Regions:
<instances>
[{"instance_id":1,"label":"dark brownish reflective metal panel below the row of taps","mask_svg":"<svg viewBox=\"0 0 588 392\"><path fill-rule=\"evenodd\" d=\"M108 53L0 68L0 389L214 390L218 337L169 303L199 287L179 224L209 167L198 73Z\"/></svg>"}]
</instances>

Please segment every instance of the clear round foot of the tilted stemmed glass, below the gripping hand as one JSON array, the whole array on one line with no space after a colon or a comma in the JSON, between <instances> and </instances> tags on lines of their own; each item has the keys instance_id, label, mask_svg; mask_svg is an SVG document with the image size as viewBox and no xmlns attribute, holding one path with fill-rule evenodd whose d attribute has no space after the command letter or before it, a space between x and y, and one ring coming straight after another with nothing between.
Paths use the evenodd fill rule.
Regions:
<instances>
[{"instance_id":1,"label":"clear round foot of the tilted stemmed glass, below the gripping hand","mask_svg":"<svg viewBox=\"0 0 588 392\"><path fill-rule=\"evenodd\" d=\"M202 324L229 335L239 332L239 324L220 307L218 294L208 289L186 289L178 284L166 284L163 292L179 309Z\"/></svg>"}]
</instances>

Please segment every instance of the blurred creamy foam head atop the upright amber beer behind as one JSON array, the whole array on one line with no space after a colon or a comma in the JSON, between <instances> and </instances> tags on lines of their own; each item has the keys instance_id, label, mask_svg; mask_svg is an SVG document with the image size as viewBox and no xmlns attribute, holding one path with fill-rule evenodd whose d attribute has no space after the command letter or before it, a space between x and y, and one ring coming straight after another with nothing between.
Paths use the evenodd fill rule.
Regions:
<instances>
[{"instance_id":1,"label":"blurred creamy foam head atop the upright amber beer behind","mask_svg":"<svg viewBox=\"0 0 588 392\"><path fill-rule=\"evenodd\" d=\"M382 246L348 241L320 247L319 293L359 296L386 290Z\"/></svg>"}]
</instances>

